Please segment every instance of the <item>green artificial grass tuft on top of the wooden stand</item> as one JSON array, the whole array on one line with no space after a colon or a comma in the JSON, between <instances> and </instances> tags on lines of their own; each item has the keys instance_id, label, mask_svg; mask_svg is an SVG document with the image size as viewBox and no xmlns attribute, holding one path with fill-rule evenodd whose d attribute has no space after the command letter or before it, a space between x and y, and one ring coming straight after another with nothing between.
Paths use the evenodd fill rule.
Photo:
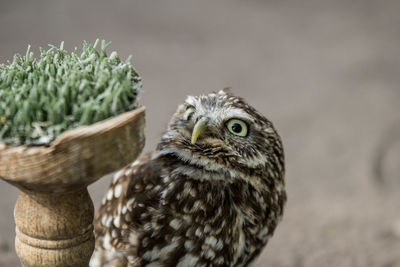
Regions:
<instances>
[{"instance_id":1,"label":"green artificial grass tuft on top of the wooden stand","mask_svg":"<svg viewBox=\"0 0 400 267\"><path fill-rule=\"evenodd\" d=\"M25 56L0 65L0 142L49 145L62 132L89 125L133 109L141 78L110 43L83 43L67 52L50 45L35 59Z\"/></svg>"}]
</instances>

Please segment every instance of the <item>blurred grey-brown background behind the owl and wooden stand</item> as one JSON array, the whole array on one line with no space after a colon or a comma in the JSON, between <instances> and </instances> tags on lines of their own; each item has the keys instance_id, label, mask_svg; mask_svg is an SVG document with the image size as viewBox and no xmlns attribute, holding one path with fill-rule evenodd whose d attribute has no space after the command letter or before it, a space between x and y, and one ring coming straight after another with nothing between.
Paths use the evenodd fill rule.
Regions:
<instances>
[{"instance_id":1,"label":"blurred grey-brown background behind the owl and wooden stand","mask_svg":"<svg viewBox=\"0 0 400 267\"><path fill-rule=\"evenodd\" d=\"M230 86L283 138L289 201L255 266L400 266L400 1L0 0L0 62L31 44L109 52L143 78L145 150L188 94ZM109 178L90 187L98 207ZM14 253L0 181L0 266Z\"/></svg>"}]
</instances>

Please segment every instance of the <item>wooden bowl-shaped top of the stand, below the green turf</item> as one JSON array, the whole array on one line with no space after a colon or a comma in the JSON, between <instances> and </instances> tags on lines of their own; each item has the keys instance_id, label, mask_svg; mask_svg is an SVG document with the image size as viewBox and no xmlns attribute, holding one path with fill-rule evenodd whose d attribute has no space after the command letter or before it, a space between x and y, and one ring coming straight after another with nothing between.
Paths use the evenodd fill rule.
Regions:
<instances>
[{"instance_id":1,"label":"wooden bowl-shaped top of the stand, below the green turf","mask_svg":"<svg viewBox=\"0 0 400 267\"><path fill-rule=\"evenodd\" d=\"M145 108L61 134L50 146L0 143L0 177L36 192L87 186L136 159L143 149Z\"/></svg>"}]
</instances>

